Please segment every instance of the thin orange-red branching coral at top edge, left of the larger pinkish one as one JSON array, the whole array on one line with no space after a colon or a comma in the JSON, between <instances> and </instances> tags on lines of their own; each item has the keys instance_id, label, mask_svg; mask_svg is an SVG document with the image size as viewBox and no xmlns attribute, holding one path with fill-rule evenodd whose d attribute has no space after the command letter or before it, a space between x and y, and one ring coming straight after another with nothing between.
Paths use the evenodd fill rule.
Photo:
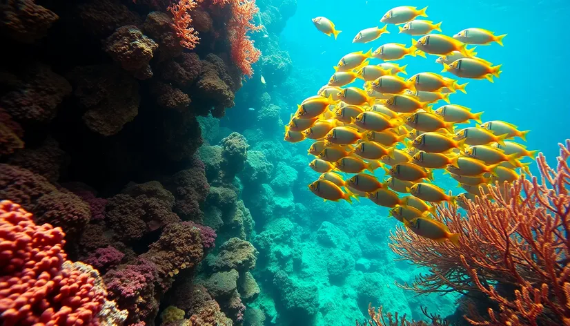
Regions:
<instances>
[{"instance_id":1,"label":"thin orange-red branching coral at top edge, left of the larger pinkish one","mask_svg":"<svg viewBox=\"0 0 570 326\"><path fill-rule=\"evenodd\" d=\"M188 11L196 8L197 3L194 0L180 0L178 3L173 3L168 7L173 15L173 27L176 30L176 35L180 39L180 45L188 50L192 50L199 42L198 32L194 30L190 24L192 18Z\"/></svg>"}]
</instances>

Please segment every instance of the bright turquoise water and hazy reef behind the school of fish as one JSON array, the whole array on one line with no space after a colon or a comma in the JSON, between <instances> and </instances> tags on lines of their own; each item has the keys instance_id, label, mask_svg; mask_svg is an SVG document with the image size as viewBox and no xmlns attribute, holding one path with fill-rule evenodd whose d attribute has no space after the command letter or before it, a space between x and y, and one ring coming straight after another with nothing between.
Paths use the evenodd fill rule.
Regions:
<instances>
[{"instance_id":1,"label":"bright turquoise water and hazy reef behind the school of fish","mask_svg":"<svg viewBox=\"0 0 570 326\"><path fill-rule=\"evenodd\" d=\"M352 44L357 32L382 27L382 15L404 5L428 6L429 17L422 19L443 21L446 35L471 27L508 34L504 47L477 46L478 57L503 65L500 78L494 83L460 79L460 84L469 82L467 94L451 95L451 103L484 111L484 122L503 120L520 131L531 130L526 145L529 150L542 151L551 164L556 164L558 142L570 136L570 106L564 95L570 73L569 45L560 28L570 9L567 1L298 1L279 39L281 50L291 57L290 75L274 82L267 71L258 68L238 94L236 108L221 122L246 136L249 153L262 152L274 166L270 180L246 184L242 192L256 223L253 243L260 255L253 275L262 288L248 307L264 311L266 325L354 325L367 316L368 303L415 319L425 319L422 306L442 316L455 311L455 294L417 297L395 285L411 282L422 269L397 261L389 249L389 235L398 222L387 218L388 209L366 199L353 204L322 202L307 189L320 175L307 166L314 158L306 155L312 141L283 141L283 125L297 104L327 83L342 56L375 50L389 42L411 45L412 37L398 34L394 25L389 26L390 34L375 41ZM311 19L319 16L331 19L342 30L336 40L313 26ZM435 59L427 55L427 59L406 57L395 62L407 64L410 77L423 71L440 73L442 66ZM380 62L371 59L371 64ZM259 82L261 75L266 76L266 85ZM362 87L362 81L357 79L349 86ZM268 126L259 118L266 114L263 103L269 98L279 106L278 126ZM438 102L435 108L443 104ZM531 171L538 173L535 164ZM375 171L375 175L382 178L383 172ZM435 175L435 183L444 189L463 192L441 172Z\"/></svg>"}]
</instances>

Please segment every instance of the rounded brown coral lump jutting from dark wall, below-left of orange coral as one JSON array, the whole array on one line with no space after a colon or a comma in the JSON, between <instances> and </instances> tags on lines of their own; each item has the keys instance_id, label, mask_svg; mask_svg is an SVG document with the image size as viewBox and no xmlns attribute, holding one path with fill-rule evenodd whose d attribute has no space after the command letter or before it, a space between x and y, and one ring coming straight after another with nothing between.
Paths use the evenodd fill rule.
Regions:
<instances>
[{"instance_id":1,"label":"rounded brown coral lump jutting from dark wall, below-left of orange coral","mask_svg":"<svg viewBox=\"0 0 570 326\"><path fill-rule=\"evenodd\" d=\"M153 70L148 62L153 59L153 53L158 48L153 39L144 35L137 26L122 26L117 28L105 41L105 51L119 62L124 70L132 73L138 79L153 77Z\"/></svg>"}]
</instances>

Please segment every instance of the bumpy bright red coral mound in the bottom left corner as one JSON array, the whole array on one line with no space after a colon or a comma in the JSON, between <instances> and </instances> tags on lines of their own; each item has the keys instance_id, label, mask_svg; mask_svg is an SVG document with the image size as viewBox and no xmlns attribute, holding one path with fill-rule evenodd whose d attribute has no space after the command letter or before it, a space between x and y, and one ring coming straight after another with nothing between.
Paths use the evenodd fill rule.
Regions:
<instances>
[{"instance_id":1,"label":"bumpy bright red coral mound in the bottom left corner","mask_svg":"<svg viewBox=\"0 0 570 326\"><path fill-rule=\"evenodd\" d=\"M0 202L0 324L99 325L106 293L86 266L66 261L64 237L18 204Z\"/></svg>"}]
</instances>

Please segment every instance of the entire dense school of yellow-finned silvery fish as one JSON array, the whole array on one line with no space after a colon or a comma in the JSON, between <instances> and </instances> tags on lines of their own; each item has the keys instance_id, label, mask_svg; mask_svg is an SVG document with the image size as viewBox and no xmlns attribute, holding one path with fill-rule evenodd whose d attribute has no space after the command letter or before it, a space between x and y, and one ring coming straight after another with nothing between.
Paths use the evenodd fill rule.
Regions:
<instances>
[{"instance_id":1,"label":"entire dense school of yellow-finned silvery fish","mask_svg":"<svg viewBox=\"0 0 570 326\"><path fill-rule=\"evenodd\" d=\"M524 157L535 156L513 139L525 141L528 131L502 121L482 123L482 112L452 103L450 95L466 93L458 79L420 72L405 78L406 66L393 61L406 56L435 55L442 73L465 79L499 77L501 65L480 57L471 45L503 46L505 35L482 28L441 33L442 23L418 19L426 8L393 8L380 19L382 28L365 28L353 43L368 43L389 34L388 26L413 37L412 44L386 43L367 52L344 55L335 73L317 94L297 106L285 126L287 142L313 140L308 149L311 169L322 173L308 189L324 200L368 198L391 208L391 215L418 235L458 245L458 233L433 220L434 204L449 202L466 208L466 200L487 195L491 182L513 182L528 171ZM326 17L315 27L337 39L340 30ZM382 62L371 64L378 59ZM347 86L362 79L362 88ZM438 106L440 100L445 104ZM476 123L476 126L472 125ZM462 126L462 124L466 124ZM465 190L451 195L432 183L433 170L443 169ZM378 177L375 171L382 170ZM481 187L480 187L481 186Z\"/></svg>"}]
</instances>

